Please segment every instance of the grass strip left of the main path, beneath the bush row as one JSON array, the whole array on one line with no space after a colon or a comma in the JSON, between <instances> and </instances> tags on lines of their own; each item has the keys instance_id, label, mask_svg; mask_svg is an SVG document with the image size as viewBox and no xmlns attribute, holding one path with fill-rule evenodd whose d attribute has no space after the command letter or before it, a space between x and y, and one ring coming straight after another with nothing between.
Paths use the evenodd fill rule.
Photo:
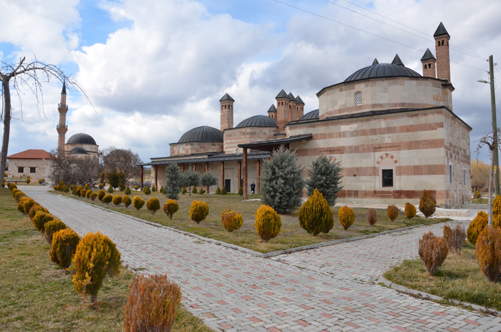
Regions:
<instances>
[{"instance_id":1,"label":"grass strip left of the main path, beneath the bush row","mask_svg":"<svg viewBox=\"0 0 501 332\"><path fill-rule=\"evenodd\" d=\"M49 244L28 216L0 190L0 326L2 331L123 331L125 303L134 275L122 268L106 277L98 302L90 305L73 288L72 276L51 263ZM172 331L209 332L203 321L179 305Z\"/></svg>"}]
</instances>

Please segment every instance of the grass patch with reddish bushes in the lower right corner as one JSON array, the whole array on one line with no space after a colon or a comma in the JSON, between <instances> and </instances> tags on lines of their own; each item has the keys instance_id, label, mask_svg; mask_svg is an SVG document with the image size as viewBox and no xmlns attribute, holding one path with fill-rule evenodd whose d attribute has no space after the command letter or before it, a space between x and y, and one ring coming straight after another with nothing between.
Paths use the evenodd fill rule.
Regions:
<instances>
[{"instance_id":1,"label":"grass patch with reddish bushes in the lower right corner","mask_svg":"<svg viewBox=\"0 0 501 332\"><path fill-rule=\"evenodd\" d=\"M426 273L419 258L405 260L383 276L399 285L444 299L501 310L501 283L491 283L485 278L475 259L475 247L467 241L461 255L449 253L434 276Z\"/></svg>"}]
</instances>

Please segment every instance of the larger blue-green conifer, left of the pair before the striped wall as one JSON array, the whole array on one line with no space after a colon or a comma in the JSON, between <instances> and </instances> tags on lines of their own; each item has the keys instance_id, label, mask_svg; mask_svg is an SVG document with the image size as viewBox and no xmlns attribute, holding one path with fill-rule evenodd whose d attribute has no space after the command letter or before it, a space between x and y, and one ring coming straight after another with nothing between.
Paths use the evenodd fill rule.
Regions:
<instances>
[{"instance_id":1,"label":"larger blue-green conifer, left of the pair before the striped wall","mask_svg":"<svg viewBox=\"0 0 501 332\"><path fill-rule=\"evenodd\" d=\"M283 145L273 152L273 158L265 160L261 173L260 192L262 203L277 213L289 214L301 205L305 181L304 168L296 163L296 152Z\"/></svg>"}]
</instances>

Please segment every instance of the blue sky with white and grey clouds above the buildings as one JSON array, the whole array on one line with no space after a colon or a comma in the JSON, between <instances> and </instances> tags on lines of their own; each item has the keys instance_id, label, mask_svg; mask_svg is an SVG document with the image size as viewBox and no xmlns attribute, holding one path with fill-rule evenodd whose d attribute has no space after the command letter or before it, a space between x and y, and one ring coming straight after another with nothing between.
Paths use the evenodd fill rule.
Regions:
<instances>
[{"instance_id":1,"label":"blue sky with white and grey clouds above the buildings","mask_svg":"<svg viewBox=\"0 0 501 332\"><path fill-rule=\"evenodd\" d=\"M267 115L281 89L314 110L318 91L374 58L390 63L398 53L421 73L443 22L461 50L450 51L453 105L473 128L473 156L475 140L491 130L489 86L476 82L488 80L489 55L501 86L500 11L489 0L0 0L0 59L59 65L92 102L68 91L66 138L85 132L149 161L169 155L168 143L193 127L219 128L226 92L236 125ZM44 83L38 108L29 91L13 95L9 154L57 146L60 91L60 82Z\"/></svg>"}]
</instances>

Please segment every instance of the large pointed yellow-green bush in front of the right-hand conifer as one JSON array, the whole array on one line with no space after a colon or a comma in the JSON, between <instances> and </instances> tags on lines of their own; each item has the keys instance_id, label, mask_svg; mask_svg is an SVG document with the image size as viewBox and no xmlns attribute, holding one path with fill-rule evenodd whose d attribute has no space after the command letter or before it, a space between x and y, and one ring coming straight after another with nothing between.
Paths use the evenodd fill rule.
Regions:
<instances>
[{"instance_id":1,"label":"large pointed yellow-green bush in front of the right-hand conifer","mask_svg":"<svg viewBox=\"0 0 501 332\"><path fill-rule=\"evenodd\" d=\"M329 233L334 226L334 215L324 195L315 189L298 213L299 226L317 236L320 232Z\"/></svg>"}]
</instances>

